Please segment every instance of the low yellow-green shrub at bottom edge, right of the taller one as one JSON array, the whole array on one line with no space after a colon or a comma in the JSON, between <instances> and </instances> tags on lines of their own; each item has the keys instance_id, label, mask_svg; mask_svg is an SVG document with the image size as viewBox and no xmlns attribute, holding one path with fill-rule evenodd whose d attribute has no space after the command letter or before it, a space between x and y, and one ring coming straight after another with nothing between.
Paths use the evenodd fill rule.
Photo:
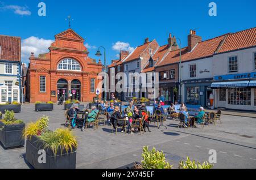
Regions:
<instances>
[{"instance_id":1,"label":"low yellow-green shrub at bottom edge, right of the taller one","mask_svg":"<svg viewBox=\"0 0 256 180\"><path fill-rule=\"evenodd\" d=\"M189 157L187 157L187 161L180 161L179 169L210 169L213 165L209 164L207 161L200 164L200 162L196 162L195 160L191 161Z\"/></svg>"}]
</instances>

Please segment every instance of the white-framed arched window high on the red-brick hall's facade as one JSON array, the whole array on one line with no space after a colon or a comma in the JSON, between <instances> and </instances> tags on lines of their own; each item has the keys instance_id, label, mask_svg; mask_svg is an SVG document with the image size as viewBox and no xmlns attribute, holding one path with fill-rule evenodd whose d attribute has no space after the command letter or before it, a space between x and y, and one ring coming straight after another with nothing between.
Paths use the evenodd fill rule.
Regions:
<instances>
[{"instance_id":1,"label":"white-framed arched window high on the red-brick hall's facade","mask_svg":"<svg viewBox=\"0 0 256 180\"><path fill-rule=\"evenodd\" d=\"M67 58L63 59L57 66L57 70L66 70L66 71L81 71L80 64L74 59Z\"/></svg>"}]
</instances>

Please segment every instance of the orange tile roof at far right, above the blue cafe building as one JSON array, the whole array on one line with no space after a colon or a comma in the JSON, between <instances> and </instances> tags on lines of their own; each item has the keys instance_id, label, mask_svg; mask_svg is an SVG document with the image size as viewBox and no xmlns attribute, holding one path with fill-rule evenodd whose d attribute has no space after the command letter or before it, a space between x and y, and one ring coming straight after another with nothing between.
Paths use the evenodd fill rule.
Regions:
<instances>
[{"instance_id":1,"label":"orange tile roof at far right, above the blue cafe building","mask_svg":"<svg viewBox=\"0 0 256 180\"><path fill-rule=\"evenodd\" d=\"M229 52L256 45L256 27L244 31L230 33L218 53Z\"/></svg>"}]
</instances>

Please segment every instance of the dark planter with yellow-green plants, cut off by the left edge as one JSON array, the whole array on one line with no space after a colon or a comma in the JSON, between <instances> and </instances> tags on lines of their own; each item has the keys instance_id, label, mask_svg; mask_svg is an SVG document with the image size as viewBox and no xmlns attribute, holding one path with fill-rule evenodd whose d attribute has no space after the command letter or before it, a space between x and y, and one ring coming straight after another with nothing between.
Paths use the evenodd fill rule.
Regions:
<instances>
[{"instance_id":1,"label":"dark planter with yellow-green plants, cut off by the left edge","mask_svg":"<svg viewBox=\"0 0 256 180\"><path fill-rule=\"evenodd\" d=\"M5 117L0 120L0 142L5 148L20 147L24 145L22 132L25 124L16 119L14 111L5 111Z\"/></svg>"}]
</instances>

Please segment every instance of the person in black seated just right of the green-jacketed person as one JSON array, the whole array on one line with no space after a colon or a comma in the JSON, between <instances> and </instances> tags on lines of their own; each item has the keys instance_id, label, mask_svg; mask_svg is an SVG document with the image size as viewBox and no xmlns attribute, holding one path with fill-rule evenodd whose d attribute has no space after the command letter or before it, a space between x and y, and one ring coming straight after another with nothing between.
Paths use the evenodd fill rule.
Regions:
<instances>
[{"instance_id":1,"label":"person in black seated just right of the green-jacketed person","mask_svg":"<svg viewBox=\"0 0 256 180\"><path fill-rule=\"evenodd\" d=\"M119 112L119 107L115 106L114 108L114 112L111 115L111 122L112 125L115 128L117 128L117 126L124 126L127 125L128 131L130 132L130 123L129 121L126 121L125 119L123 119L122 121L118 121L119 119L123 119L123 117L121 116L120 112ZM125 130L122 128L121 132L124 132Z\"/></svg>"}]
</instances>

